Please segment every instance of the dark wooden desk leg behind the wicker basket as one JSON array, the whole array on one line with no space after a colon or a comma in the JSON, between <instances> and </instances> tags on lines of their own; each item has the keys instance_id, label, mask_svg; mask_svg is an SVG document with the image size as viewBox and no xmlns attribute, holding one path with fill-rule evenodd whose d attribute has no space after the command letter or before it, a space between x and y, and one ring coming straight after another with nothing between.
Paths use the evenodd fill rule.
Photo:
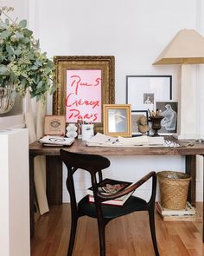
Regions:
<instances>
[{"instance_id":1,"label":"dark wooden desk leg behind the wicker basket","mask_svg":"<svg viewBox=\"0 0 204 256\"><path fill-rule=\"evenodd\" d=\"M188 201L195 207L196 201L196 155L186 155L186 174L192 178L188 189Z\"/></svg>"}]
</instances>

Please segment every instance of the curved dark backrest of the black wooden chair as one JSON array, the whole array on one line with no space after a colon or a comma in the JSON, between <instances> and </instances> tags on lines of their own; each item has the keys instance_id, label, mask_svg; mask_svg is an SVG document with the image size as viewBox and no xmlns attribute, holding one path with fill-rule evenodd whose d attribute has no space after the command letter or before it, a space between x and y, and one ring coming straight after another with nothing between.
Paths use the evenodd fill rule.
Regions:
<instances>
[{"instance_id":1,"label":"curved dark backrest of the black wooden chair","mask_svg":"<svg viewBox=\"0 0 204 256\"><path fill-rule=\"evenodd\" d=\"M101 171L110 166L110 161L98 154L80 154L68 152L61 149L61 160L67 167L67 190L70 194L70 200L74 211L77 210L76 196L73 182L73 174L80 168L88 171L91 174L93 194L97 194L97 177L99 174L99 181L102 181Z\"/></svg>"}]
</instances>

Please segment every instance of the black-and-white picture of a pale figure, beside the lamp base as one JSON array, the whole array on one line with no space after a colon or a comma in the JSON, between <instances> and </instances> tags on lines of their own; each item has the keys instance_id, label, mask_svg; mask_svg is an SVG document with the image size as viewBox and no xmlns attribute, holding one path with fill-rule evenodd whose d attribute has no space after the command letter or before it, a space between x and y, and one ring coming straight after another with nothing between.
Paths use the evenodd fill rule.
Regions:
<instances>
[{"instance_id":1,"label":"black-and-white picture of a pale figure, beside the lamp base","mask_svg":"<svg viewBox=\"0 0 204 256\"><path fill-rule=\"evenodd\" d=\"M163 115L159 135L173 135L177 132L178 102L156 102L160 115Z\"/></svg>"}]
</instances>

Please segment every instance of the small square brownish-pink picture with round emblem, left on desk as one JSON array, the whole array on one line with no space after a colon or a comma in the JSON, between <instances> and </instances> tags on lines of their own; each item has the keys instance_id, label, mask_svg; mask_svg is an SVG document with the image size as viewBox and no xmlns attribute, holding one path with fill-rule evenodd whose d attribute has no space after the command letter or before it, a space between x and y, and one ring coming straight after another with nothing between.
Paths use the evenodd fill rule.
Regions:
<instances>
[{"instance_id":1,"label":"small square brownish-pink picture with round emblem, left on desk","mask_svg":"<svg viewBox=\"0 0 204 256\"><path fill-rule=\"evenodd\" d=\"M45 115L45 135L65 136L65 126L65 115Z\"/></svg>"}]
</instances>

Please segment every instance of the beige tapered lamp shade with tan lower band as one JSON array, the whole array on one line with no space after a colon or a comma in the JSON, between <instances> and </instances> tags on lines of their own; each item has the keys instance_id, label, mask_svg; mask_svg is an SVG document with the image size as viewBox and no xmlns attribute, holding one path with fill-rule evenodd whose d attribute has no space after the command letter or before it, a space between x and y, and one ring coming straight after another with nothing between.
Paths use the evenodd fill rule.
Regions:
<instances>
[{"instance_id":1,"label":"beige tapered lamp shade with tan lower band","mask_svg":"<svg viewBox=\"0 0 204 256\"><path fill-rule=\"evenodd\" d=\"M153 65L204 63L204 37L195 30L180 30Z\"/></svg>"}]
</instances>

